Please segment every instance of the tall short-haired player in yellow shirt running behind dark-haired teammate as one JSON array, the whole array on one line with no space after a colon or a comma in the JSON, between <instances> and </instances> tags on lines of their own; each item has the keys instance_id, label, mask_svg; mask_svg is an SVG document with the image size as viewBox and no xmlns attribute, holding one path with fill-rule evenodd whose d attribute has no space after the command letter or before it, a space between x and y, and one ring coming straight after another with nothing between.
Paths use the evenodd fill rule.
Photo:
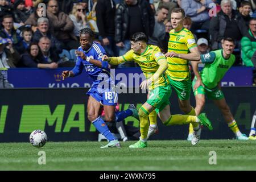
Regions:
<instances>
[{"instance_id":1,"label":"tall short-haired player in yellow shirt running behind dark-haired teammate","mask_svg":"<svg viewBox=\"0 0 256 182\"><path fill-rule=\"evenodd\" d=\"M166 53L168 69L168 79L177 93L180 110L187 115L196 115L195 109L191 106L189 96L191 93L191 73L189 72L188 62L199 61L200 53L197 49L196 40L191 31L183 27L185 19L184 10L175 8L171 12L172 29ZM152 114L151 114L151 118ZM199 123L192 123L193 137L192 144L199 142L201 126ZM156 122L150 120L150 130L148 137L157 131Z\"/></svg>"}]
</instances>

